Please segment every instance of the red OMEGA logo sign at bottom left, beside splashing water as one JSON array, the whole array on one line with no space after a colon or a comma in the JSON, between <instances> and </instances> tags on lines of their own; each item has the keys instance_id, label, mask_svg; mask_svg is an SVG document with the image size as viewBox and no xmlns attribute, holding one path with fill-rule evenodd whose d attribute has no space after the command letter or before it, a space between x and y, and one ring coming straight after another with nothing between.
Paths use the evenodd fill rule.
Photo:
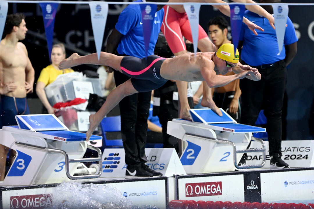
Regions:
<instances>
[{"instance_id":1,"label":"red OMEGA logo sign at bottom left, beside splashing water","mask_svg":"<svg viewBox=\"0 0 314 209\"><path fill-rule=\"evenodd\" d=\"M36 208L44 209L52 207L52 199L50 194L41 195L25 195L25 196L11 196L10 208Z\"/></svg>"}]
</instances>

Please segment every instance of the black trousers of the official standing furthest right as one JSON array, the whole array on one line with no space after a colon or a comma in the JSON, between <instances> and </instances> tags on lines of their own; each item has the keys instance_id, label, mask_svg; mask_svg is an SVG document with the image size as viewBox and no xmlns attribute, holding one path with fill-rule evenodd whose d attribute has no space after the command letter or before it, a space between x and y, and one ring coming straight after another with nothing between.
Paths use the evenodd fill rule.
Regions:
<instances>
[{"instance_id":1,"label":"black trousers of the official standing furthest right","mask_svg":"<svg viewBox=\"0 0 314 209\"><path fill-rule=\"evenodd\" d=\"M267 118L269 155L279 154L281 156L281 115L287 83L287 68L284 61L265 69L256 68L262 75L260 81L252 81L247 78L240 80L241 123L254 125L263 105Z\"/></svg>"}]
</instances>

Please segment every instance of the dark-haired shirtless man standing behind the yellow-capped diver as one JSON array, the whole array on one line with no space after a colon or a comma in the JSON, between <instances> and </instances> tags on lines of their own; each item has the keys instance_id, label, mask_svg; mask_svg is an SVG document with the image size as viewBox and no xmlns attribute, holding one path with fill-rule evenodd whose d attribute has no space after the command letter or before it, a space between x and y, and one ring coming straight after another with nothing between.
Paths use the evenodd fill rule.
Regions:
<instances>
[{"instance_id":1,"label":"dark-haired shirtless man standing behind the yellow-capped diver","mask_svg":"<svg viewBox=\"0 0 314 209\"><path fill-rule=\"evenodd\" d=\"M216 48L222 44L231 43L227 38L228 22L222 16L217 16L208 22L209 37L212 39ZM234 72L228 72L226 76L234 75ZM218 107L223 108L233 119L240 123L240 80L235 80L225 86L217 87L214 89L214 102Z\"/></svg>"}]
</instances>

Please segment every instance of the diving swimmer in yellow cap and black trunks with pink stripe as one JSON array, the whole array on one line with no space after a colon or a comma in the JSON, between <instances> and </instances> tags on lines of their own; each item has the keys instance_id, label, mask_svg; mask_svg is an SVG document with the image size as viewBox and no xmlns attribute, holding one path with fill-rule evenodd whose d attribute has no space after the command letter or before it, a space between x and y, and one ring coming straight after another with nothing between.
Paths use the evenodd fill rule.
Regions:
<instances>
[{"instance_id":1,"label":"diving swimmer in yellow cap and black trunks with pink stripe","mask_svg":"<svg viewBox=\"0 0 314 209\"><path fill-rule=\"evenodd\" d=\"M238 78L250 78L253 81L261 79L256 68L241 65L239 53L234 54L233 44L223 44L217 52L187 53L174 58L162 58L150 55L143 59L136 57L122 57L101 52L100 60L97 54L79 56L77 53L59 64L59 69L65 69L81 64L107 65L131 77L117 86L108 95L106 102L98 112L89 116L89 129L86 132L88 141L91 134L106 116L124 97L138 92L151 91L164 85L168 80L206 81L209 87L224 86ZM221 76L235 71L238 74Z\"/></svg>"}]
</instances>

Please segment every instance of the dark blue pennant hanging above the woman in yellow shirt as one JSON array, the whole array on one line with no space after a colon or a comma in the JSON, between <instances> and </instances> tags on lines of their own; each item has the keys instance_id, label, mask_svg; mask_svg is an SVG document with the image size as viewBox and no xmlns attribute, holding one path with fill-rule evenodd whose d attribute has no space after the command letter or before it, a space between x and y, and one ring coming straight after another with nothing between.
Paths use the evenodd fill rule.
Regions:
<instances>
[{"instance_id":1,"label":"dark blue pennant hanging above the woman in yellow shirt","mask_svg":"<svg viewBox=\"0 0 314 209\"><path fill-rule=\"evenodd\" d=\"M49 60L51 61L53 28L55 26L58 3L39 3L39 5L41 6L42 17L44 18Z\"/></svg>"}]
</instances>

